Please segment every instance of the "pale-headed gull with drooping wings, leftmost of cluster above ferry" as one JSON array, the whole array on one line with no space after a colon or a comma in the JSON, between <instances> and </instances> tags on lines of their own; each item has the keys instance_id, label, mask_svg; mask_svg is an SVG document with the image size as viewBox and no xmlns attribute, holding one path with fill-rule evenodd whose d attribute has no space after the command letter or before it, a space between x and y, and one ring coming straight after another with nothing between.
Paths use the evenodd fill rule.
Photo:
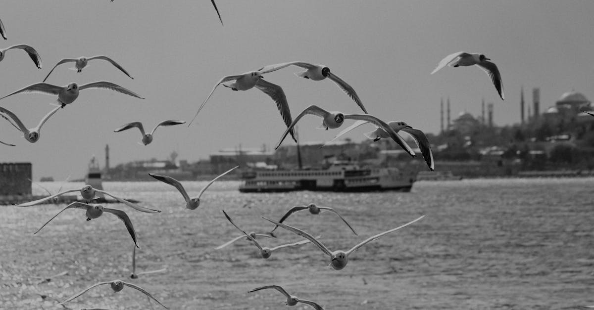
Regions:
<instances>
[{"instance_id":1,"label":"pale-headed gull with drooping wings, leftmost of cluster above ferry","mask_svg":"<svg viewBox=\"0 0 594 310\"><path fill-rule=\"evenodd\" d=\"M204 100L202 105L198 108L198 112L196 112L196 115L194 115L194 118L192 118L192 121L189 122L188 126L192 124L196 116L198 116L198 113L200 113L200 110L202 110L210 96L212 96L214 93L214 90L216 90L220 84L223 84L223 86L229 87L232 90L248 90L254 87L258 88L270 96L272 100L274 100L277 109L279 109L280 116L283 118L283 121L285 121L285 125L289 126L289 124L291 124L291 111L289 109L289 103L287 103L287 97L285 96L285 91L283 91L283 88L264 80L264 77L262 77L262 73L260 71L249 71L239 75L228 75L223 77L216 85L214 85L213 90L210 91L210 94L208 94L206 100ZM293 140L295 140L295 135L292 130L290 133L291 137L293 137Z\"/></svg>"}]
</instances>

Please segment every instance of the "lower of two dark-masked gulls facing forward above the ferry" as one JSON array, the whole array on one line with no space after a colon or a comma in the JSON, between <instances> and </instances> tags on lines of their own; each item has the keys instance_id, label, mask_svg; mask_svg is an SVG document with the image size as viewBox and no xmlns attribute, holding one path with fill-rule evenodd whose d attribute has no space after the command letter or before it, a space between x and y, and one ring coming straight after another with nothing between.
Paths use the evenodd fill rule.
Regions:
<instances>
[{"instance_id":1,"label":"lower of two dark-masked gulls facing forward above the ferry","mask_svg":"<svg viewBox=\"0 0 594 310\"><path fill-rule=\"evenodd\" d=\"M338 112L338 111L328 112L327 110L324 110L321 107L318 107L315 105L306 107L304 110L301 111L301 113L299 113L299 115L297 115L297 117L295 119L293 119L293 122L290 124L289 128L287 128L285 133L280 137L279 143L276 144L276 148L279 148L280 144L283 143L283 140L285 140L287 133L289 132L290 129L293 129L293 126L295 126L295 124L297 124L299 119L301 119L304 115L308 115L308 114L320 116L323 119L323 121L322 121L322 125L318 128L326 129L326 130L328 130L328 128L339 128L343 124L345 119L356 119L359 121L370 122L374 125L384 128L386 130L386 132L390 135L390 137L394 141L396 141L396 143L398 143L398 145L400 145L402 148L404 148L405 151L407 153L409 153L410 156L416 157L415 152L412 150L412 148L410 148L409 145L406 144L406 142L404 140L402 140L402 138L399 135L396 134L394 129L392 129L390 126L388 126L388 124L386 124L386 122L382 121L381 119L378 119L375 116L372 116L369 114L345 114L345 113Z\"/></svg>"}]
</instances>

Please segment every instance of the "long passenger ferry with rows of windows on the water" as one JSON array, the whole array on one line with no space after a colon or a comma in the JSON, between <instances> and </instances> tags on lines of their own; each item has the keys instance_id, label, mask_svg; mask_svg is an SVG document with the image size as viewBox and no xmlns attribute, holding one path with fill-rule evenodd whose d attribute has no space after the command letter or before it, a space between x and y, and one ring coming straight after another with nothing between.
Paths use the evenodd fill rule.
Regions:
<instances>
[{"instance_id":1,"label":"long passenger ferry with rows of windows on the water","mask_svg":"<svg viewBox=\"0 0 594 310\"><path fill-rule=\"evenodd\" d=\"M403 191L409 192L416 171L396 167L361 168L350 162L335 162L328 169L255 170L242 175L240 192L286 191Z\"/></svg>"}]
</instances>

